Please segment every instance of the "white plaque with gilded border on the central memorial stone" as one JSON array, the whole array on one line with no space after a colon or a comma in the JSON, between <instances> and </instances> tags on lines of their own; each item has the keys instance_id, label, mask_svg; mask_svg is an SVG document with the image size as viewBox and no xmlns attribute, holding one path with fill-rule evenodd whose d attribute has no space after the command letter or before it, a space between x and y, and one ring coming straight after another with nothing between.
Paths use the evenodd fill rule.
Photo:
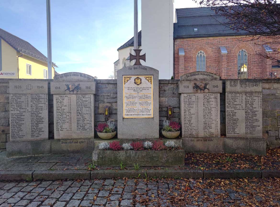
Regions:
<instances>
[{"instance_id":1,"label":"white plaque with gilded border on the central memorial stone","mask_svg":"<svg viewBox=\"0 0 280 207\"><path fill-rule=\"evenodd\" d=\"M153 76L123 76L123 118L153 118Z\"/></svg>"}]
</instances>

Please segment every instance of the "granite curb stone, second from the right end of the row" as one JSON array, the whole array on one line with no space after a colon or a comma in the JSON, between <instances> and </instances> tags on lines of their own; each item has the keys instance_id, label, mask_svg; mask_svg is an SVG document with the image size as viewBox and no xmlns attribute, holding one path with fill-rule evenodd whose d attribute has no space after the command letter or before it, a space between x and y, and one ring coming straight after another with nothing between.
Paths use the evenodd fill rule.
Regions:
<instances>
[{"instance_id":1,"label":"granite curb stone, second from the right end of the row","mask_svg":"<svg viewBox=\"0 0 280 207\"><path fill-rule=\"evenodd\" d=\"M260 178L260 170L204 170L203 178Z\"/></svg>"}]
</instances>

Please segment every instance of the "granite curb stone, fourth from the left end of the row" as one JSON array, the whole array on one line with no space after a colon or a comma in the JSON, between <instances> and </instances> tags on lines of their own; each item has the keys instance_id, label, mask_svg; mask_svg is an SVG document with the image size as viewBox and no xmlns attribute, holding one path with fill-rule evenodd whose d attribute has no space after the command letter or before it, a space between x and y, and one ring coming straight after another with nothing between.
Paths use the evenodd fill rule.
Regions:
<instances>
[{"instance_id":1,"label":"granite curb stone, fourth from the left end of the row","mask_svg":"<svg viewBox=\"0 0 280 207\"><path fill-rule=\"evenodd\" d=\"M185 169L161 169L147 170L147 175L150 178L203 178L202 170L185 170Z\"/></svg>"}]
</instances>

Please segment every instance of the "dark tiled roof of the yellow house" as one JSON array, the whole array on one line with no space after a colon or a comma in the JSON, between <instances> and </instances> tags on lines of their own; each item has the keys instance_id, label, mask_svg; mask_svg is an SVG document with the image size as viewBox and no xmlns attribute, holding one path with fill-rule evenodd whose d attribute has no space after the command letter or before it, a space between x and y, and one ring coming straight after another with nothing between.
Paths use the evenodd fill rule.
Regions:
<instances>
[{"instance_id":1,"label":"dark tiled roof of the yellow house","mask_svg":"<svg viewBox=\"0 0 280 207\"><path fill-rule=\"evenodd\" d=\"M18 52L28 55L37 60L48 62L48 58L45 55L43 55L39 50L34 48L29 42L20 39L19 37L1 28L0 28L0 38L3 39L6 43L8 43L11 47L13 47ZM57 67L55 63L53 63L53 66Z\"/></svg>"}]
</instances>

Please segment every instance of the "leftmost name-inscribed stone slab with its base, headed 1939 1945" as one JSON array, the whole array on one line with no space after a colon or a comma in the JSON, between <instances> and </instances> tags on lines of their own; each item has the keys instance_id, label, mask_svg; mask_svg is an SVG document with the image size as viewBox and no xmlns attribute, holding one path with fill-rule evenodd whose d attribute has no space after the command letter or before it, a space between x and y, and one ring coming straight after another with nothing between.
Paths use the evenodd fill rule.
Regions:
<instances>
[{"instance_id":1,"label":"leftmost name-inscribed stone slab with its base, headed 1939 1945","mask_svg":"<svg viewBox=\"0 0 280 207\"><path fill-rule=\"evenodd\" d=\"M7 156L50 153L48 81L10 81Z\"/></svg>"}]
</instances>

